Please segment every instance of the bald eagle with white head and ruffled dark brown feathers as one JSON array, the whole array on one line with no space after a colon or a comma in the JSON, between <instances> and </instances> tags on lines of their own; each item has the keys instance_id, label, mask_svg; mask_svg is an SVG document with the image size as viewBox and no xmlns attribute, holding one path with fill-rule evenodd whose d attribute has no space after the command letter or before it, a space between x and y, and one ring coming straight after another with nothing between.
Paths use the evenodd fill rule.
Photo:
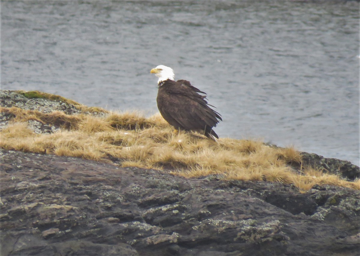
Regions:
<instances>
[{"instance_id":1,"label":"bald eagle with white head and ruffled dark brown feathers","mask_svg":"<svg viewBox=\"0 0 360 256\"><path fill-rule=\"evenodd\" d=\"M174 71L164 65L158 65L150 73L159 78L157 106L169 124L175 129L197 131L212 140L219 138L212 128L219 120L222 121L221 115L209 107L212 105L207 103L206 93L192 86L189 81L174 81Z\"/></svg>"}]
</instances>

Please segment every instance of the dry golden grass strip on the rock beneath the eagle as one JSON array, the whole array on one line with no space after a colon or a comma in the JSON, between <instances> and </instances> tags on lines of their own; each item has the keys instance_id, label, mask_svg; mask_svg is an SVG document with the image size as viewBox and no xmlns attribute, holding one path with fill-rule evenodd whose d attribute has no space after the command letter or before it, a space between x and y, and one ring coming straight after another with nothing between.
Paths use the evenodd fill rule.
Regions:
<instances>
[{"instance_id":1,"label":"dry golden grass strip on the rock beneath the eagle","mask_svg":"<svg viewBox=\"0 0 360 256\"><path fill-rule=\"evenodd\" d=\"M98 161L120 161L136 166L166 170L184 177L222 174L226 179L267 180L294 184L301 191L315 184L360 189L360 180L348 182L336 175L304 169L297 174L289 163L301 163L301 155L289 148L267 146L261 141L220 138L217 142L191 132L173 132L157 114L93 115L50 114L19 108L2 108L14 115L0 131L0 146L8 150L76 156ZM96 110L94 110L96 111ZM60 126L58 132L36 134L28 120Z\"/></svg>"}]
</instances>

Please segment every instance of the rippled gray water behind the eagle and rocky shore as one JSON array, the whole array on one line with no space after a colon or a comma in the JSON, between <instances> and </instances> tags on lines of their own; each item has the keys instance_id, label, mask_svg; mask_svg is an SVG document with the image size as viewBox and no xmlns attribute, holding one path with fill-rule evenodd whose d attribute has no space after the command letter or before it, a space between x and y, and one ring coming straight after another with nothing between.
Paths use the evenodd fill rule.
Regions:
<instances>
[{"instance_id":1,"label":"rippled gray water behind the eagle and rocky shore","mask_svg":"<svg viewBox=\"0 0 360 256\"><path fill-rule=\"evenodd\" d=\"M159 64L208 93L220 137L359 164L356 1L2 1L1 87L157 113Z\"/></svg>"}]
</instances>

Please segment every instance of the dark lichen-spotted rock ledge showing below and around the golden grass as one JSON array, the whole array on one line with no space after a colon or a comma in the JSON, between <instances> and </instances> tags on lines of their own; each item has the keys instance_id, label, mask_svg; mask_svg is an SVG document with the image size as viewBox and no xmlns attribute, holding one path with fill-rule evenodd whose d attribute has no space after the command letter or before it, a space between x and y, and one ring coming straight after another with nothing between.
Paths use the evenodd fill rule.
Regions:
<instances>
[{"instance_id":1,"label":"dark lichen-spotted rock ledge showing below and around the golden grass","mask_svg":"<svg viewBox=\"0 0 360 256\"><path fill-rule=\"evenodd\" d=\"M102 115L1 91L1 106ZM1 127L12 117L1 113ZM58 127L31 123L39 132ZM305 156L307 153L303 153ZM359 168L307 155L348 180ZM360 191L184 178L76 157L0 150L0 255L359 255ZM345 168L344 166L348 166ZM296 166L294 166L296 169ZM342 169L342 170L341 170Z\"/></svg>"}]
</instances>

